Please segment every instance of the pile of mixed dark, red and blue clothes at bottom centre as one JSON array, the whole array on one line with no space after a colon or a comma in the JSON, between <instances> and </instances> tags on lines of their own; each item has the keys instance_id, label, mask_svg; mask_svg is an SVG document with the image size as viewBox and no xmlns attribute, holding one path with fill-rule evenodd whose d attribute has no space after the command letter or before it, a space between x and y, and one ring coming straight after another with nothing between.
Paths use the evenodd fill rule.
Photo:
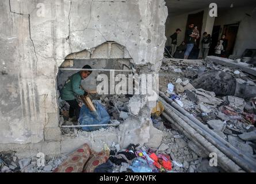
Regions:
<instances>
[{"instance_id":1,"label":"pile of mixed dark, red and blue clothes at bottom centre","mask_svg":"<svg viewBox=\"0 0 256 184\"><path fill-rule=\"evenodd\" d=\"M124 173L165 173L172 170L169 155L155 154L151 148L130 144L126 150L110 151L108 162L96 167L95 173L112 173L114 166L127 166ZM121 171L122 172L122 171Z\"/></svg>"}]
</instances>

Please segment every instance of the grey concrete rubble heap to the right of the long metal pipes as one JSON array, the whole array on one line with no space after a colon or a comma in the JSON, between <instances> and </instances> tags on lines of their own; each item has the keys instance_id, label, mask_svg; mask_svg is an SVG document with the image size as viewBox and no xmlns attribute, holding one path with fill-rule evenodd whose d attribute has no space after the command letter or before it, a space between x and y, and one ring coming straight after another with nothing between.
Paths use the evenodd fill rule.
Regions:
<instances>
[{"instance_id":1,"label":"grey concrete rubble heap to the right of the long metal pipes","mask_svg":"<svg viewBox=\"0 0 256 184\"><path fill-rule=\"evenodd\" d=\"M170 66L185 68L188 65L184 62L186 60L166 61L162 68L165 70L169 66L171 75L175 71L170 70ZM255 86L255 76L206 62L202 66L192 64L190 67L197 72L182 69L182 74L169 84L161 79L161 91L234 147L256 159L256 93L250 96L247 93L241 98L237 84L237 81L243 80L244 85Z\"/></svg>"}]
</instances>

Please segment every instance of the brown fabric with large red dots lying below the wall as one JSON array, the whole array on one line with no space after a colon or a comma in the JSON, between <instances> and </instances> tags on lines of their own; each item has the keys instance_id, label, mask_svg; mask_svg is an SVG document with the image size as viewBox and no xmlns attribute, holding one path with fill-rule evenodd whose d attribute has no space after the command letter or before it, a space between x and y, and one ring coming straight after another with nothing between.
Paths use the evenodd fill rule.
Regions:
<instances>
[{"instance_id":1,"label":"brown fabric with large red dots lying below the wall","mask_svg":"<svg viewBox=\"0 0 256 184\"><path fill-rule=\"evenodd\" d=\"M95 167L108 161L109 152L94 152L84 144L73 152L53 173L93 173Z\"/></svg>"}]
</instances>

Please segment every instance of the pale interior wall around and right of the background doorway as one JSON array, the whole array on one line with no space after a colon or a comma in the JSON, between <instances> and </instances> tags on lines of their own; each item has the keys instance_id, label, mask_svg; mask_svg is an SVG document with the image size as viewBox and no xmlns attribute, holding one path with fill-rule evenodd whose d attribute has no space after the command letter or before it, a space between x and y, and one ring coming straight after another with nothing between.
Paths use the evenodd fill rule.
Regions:
<instances>
[{"instance_id":1,"label":"pale interior wall around and right of the background doorway","mask_svg":"<svg viewBox=\"0 0 256 184\"><path fill-rule=\"evenodd\" d=\"M234 55L242 55L246 48L256 48L256 11L255 6L234 7L230 10L219 11L215 19L215 25L221 26L221 33L224 25L240 22ZM251 14L251 17L246 16ZM220 36L221 36L220 33Z\"/></svg>"}]
</instances>

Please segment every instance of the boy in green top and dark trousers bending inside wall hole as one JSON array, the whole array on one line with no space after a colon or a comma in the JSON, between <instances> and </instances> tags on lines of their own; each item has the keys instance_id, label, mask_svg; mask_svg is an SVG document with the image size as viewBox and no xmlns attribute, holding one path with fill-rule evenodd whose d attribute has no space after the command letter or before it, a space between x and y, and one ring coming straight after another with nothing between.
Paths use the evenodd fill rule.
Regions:
<instances>
[{"instance_id":1,"label":"boy in green top and dark trousers bending inside wall hole","mask_svg":"<svg viewBox=\"0 0 256 184\"><path fill-rule=\"evenodd\" d=\"M86 65L83 69L91 69L91 67ZM81 107L78 104L77 98L79 95L88 95L86 91L81 89L81 81L86 79L91 72L92 71L79 71L71 75L60 91L61 98L70 105L68 121L77 121L79 118Z\"/></svg>"}]
</instances>

